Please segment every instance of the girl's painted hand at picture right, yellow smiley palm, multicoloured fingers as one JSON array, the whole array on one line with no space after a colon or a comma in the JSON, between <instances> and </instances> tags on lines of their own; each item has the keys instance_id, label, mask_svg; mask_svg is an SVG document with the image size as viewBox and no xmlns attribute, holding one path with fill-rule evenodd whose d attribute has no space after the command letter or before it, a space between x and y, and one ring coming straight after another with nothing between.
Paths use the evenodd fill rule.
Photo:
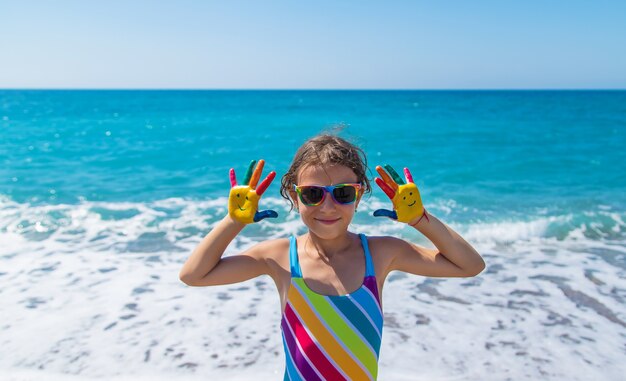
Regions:
<instances>
[{"instance_id":1,"label":"girl's painted hand at picture right, yellow smiley palm, multicoloured fingers","mask_svg":"<svg viewBox=\"0 0 626 381\"><path fill-rule=\"evenodd\" d=\"M389 174L385 172L385 169ZM408 168L404 168L405 183L389 164L385 165L385 169L380 165L376 166L376 172L382 177L376 178L376 184L391 199L393 210L378 209L374 211L374 217L389 217L400 222L416 224L422 217L426 216L426 210L422 205L422 198L413 182L411 172Z\"/></svg>"}]
</instances>

